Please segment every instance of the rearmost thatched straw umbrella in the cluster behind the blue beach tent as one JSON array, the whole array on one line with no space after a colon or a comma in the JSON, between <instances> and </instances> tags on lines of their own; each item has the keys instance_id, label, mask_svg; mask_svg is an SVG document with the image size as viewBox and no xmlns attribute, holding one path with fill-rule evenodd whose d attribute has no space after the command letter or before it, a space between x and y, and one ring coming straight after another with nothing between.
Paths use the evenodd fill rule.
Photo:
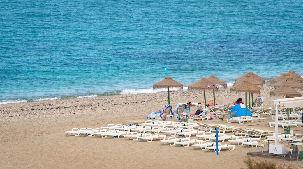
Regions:
<instances>
[{"instance_id":1,"label":"rearmost thatched straw umbrella in the cluster behind the blue beach tent","mask_svg":"<svg viewBox=\"0 0 303 169\"><path fill-rule=\"evenodd\" d=\"M265 79L261 78L258 75L255 75L253 72L248 72L247 74L236 78L234 85L238 85L240 83L242 83L243 81L249 81L249 83L253 84L253 85L260 85L263 86L263 84L265 83ZM253 96L251 93L251 104L253 104ZM249 107L250 107L250 93L248 92L248 103L249 103Z\"/></svg>"}]
</instances>

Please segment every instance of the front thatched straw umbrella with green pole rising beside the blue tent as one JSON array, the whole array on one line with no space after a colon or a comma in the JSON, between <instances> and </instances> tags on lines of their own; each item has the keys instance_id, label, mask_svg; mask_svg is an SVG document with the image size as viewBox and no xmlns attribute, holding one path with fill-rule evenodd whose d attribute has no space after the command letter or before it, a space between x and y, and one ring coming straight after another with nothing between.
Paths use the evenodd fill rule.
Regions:
<instances>
[{"instance_id":1,"label":"front thatched straw umbrella with green pole rising beside the blue tent","mask_svg":"<svg viewBox=\"0 0 303 169\"><path fill-rule=\"evenodd\" d=\"M245 115L247 115L247 92L249 93L260 93L261 89L251 84L248 81L243 81L242 83L232 86L230 91L243 91L245 92Z\"/></svg>"}]
</instances>

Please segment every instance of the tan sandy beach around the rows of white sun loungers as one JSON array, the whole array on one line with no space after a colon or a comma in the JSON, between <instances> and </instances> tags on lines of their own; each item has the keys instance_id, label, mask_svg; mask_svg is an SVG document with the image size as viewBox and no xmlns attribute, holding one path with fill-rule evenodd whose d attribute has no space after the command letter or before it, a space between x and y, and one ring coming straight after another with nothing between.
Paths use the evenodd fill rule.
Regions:
<instances>
[{"instance_id":1,"label":"tan sandy beach around the rows of white sun loungers","mask_svg":"<svg viewBox=\"0 0 303 169\"><path fill-rule=\"evenodd\" d=\"M272 85L264 85L261 94L264 107L274 108L269 91ZM206 91L206 100L212 91ZM227 104L245 93L219 89L217 104ZM203 91L170 92L170 103L175 109L178 103L201 102ZM125 138L101 138L66 136L64 131L72 128L100 128L107 124L133 124L144 122L148 114L168 103L167 92L140 95L113 95L102 98L85 98L60 101L38 101L0 105L0 168L241 168L247 152L256 152L255 147L236 145L234 151L214 151L178 147L160 141L133 141ZM195 112L196 107L191 107ZM225 116L226 118L226 116ZM225 124L242 128L275 130L272 122L227 123L226 119L206 121L209 124ZM172 119L177 121L176 118ZM302 130L295 132L301 133ZM281 127L279 132L283 133ZM196 137L192 136L193 139ZM228 144L229 142L225 142ZM266 150L266 148L265 148ZM295 155L295 154L293 154ZM251 157L257 159L257 157ZM286 157L285 157L286 158ZM258 157L258 159L264 159ZM300 161L268 158L277 164L294 164L303 168Z\"/></svg>"}]
</instances>

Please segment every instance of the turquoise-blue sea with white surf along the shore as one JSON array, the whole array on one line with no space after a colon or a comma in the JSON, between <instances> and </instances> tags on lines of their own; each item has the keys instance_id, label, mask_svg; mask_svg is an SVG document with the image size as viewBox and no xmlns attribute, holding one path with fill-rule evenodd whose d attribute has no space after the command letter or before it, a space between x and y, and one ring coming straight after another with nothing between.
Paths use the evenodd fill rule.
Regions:
<instances>
[{"instance_id":1,"label":"turquoise-blue sea with white surf along the shore","mask_svg":"<svg viewBox=\"0 0 303 169\"><path fill-rule=\"evenodd\" d=\"M298 0L2 0L0 104L303 75ZM167 67L168 71L163 68Z\"/></svg>"}]
</instances>

